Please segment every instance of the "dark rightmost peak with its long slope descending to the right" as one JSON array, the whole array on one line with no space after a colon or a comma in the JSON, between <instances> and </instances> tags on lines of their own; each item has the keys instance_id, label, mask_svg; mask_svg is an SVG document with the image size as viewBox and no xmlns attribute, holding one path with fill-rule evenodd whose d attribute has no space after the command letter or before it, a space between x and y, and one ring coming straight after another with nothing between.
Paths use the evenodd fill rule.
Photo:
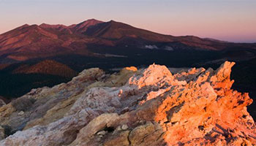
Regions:
<instances>
[{"instance_id":1,"label":"dark rightmost peak with its long slope descending to the right","mask_svg":"<svg viewBox=\"0 0 256 146\"><path fill-rule=\"evenodd\" d=\"M120 40L124 38L146 40L148 42L181 42L190 47L197 47L205 50L222 50L226 47L227 42L214 41L213 39L201 39L194 36L173 37L170 35L157 34L144 29L135 28L124 23L110 20L107 23L99 23L91 26L84 33L91 37L100 37L103 39ZM126 44L128 45L128 44Z\"/></svg>"}]
</instances>

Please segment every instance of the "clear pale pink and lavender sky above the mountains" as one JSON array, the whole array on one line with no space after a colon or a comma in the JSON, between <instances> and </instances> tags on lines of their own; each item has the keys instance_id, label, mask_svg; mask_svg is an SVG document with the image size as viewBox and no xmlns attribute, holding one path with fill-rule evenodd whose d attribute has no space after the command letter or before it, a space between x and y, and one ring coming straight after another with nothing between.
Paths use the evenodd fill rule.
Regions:
<instances>
[{"instance_id":1,"label":"clear pale pink and lavender sky above the mountains","mask_svg":"<svg viewBox=\"0 0 256 146\"><path fill-rule=\"evenodd\" d=\"M0 0L0 34L28 24L116 20L161 34L256 42L256 0Z\"/></svg>"}]
</instances>

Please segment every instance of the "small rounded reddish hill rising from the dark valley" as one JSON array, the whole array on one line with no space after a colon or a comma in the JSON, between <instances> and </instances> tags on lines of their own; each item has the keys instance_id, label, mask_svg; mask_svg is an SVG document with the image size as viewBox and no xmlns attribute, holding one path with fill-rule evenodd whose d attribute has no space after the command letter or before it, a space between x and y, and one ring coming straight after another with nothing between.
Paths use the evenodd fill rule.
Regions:
<instances>
[{"instance_id":1,"label":"small rounded reddish hill rising from the dark valley","mask_svg":"<svg viewBox=\"0 0 256 146\"><path fill-rule=\"evenodd\" d=\"M15 74L51 74L61 77L74 77L77 73L69 66L57 61L45 60L32 66L19 66L13 71Z\"/></svg>"}]
</instances>

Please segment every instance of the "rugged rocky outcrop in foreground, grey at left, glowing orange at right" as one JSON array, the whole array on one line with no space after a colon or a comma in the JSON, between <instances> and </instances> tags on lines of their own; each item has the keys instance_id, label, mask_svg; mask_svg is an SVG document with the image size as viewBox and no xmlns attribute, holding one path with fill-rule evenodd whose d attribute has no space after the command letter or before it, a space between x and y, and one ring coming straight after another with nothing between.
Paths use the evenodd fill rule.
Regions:
<instances>
[{"instance_id":1,"label":"rugged rocky outcrop in foreground, grey at left, glowing orange at right","mask_svg":"<svg viewBox=\"0 0 256 146\"><path fill-rule=\"evenodd\" d=\"M230 89L233 65L86 69L0 107L1 129L11 131L0 145L256 145L252 99Z\"/></svg>"}]
</instances>

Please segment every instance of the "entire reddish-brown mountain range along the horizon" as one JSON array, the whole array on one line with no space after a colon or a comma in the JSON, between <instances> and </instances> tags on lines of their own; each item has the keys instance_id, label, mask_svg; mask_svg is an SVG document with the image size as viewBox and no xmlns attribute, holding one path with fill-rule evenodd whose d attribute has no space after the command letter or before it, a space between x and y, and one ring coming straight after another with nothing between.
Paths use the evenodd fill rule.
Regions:
<instances>
[{"instance_id":1,"label":"entire reddish-brown mountain range along the horizon","mask_svg":"<svg viewBox=\"0 0 256 146\"><path fill-rule=\"evenodd\" d=\"M131 43L132 42L132 43ZM220 42L199 37L173 37L157 34L124 23L110 20L86 20L72 26L23 25L0 35L0 62L27 61L57 55L79 54L95 56L89 45L118 47L131 45L137 48L155 46L165 50L225 50L229 47L253 47L254 44ZM151 47L150 47L151 48ZM9 59L9 60L8 60Z\"/></svg>"}]
</instances>

